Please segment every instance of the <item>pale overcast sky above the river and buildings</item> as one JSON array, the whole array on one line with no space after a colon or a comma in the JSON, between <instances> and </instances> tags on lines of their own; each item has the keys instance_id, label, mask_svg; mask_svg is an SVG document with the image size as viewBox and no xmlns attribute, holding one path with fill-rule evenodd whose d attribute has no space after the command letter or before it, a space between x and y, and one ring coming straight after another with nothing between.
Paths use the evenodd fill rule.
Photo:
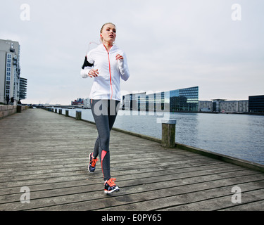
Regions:
<instances>
[{"instance_id":1,"label":"pale overcast sky above the river and buildings","mask_svg":"<svg viewBox=\"0 0 264 225\"><path fill-rule=\"evenodd\" d=\"M123 91L199 86L199 100L244 100L264 94L263 10L263 0L8 0L0 39L20 43L23 103L89 97L92 78L80 68L106 22L130 67Z\"/></svg>"}]
</instances>

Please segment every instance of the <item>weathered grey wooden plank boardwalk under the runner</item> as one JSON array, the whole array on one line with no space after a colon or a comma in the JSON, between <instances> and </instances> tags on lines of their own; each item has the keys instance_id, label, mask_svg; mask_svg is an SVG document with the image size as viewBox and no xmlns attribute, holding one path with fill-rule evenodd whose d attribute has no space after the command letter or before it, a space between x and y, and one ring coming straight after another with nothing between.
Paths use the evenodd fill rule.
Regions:
<instances>
[{"instance_id":1,"label":"weathered grey wooden plank boardwalk under the runner","mask_svg":"<svg viewBox=\"0 0 264 225\"><path fill-rule=\"evenodd\" d=\"M264 210L263 173L118 131L111 174L120 192L109 197L100 163L87 171L96 136L94 124L41 109L0 120L0 210ZM232 203L235 186L241 203Z\"/></svg>"}]
</instances>

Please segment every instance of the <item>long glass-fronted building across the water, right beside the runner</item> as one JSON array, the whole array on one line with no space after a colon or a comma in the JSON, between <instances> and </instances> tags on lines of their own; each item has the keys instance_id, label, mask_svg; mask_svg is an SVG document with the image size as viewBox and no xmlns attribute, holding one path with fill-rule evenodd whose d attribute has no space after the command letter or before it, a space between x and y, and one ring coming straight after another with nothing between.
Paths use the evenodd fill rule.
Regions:
<instances>
[{"instance_id":1,"label":"long glass-fronted building across the water, right beside the runner","mask_svg":"<svg viewBox=\"0 0 264 225\"><path fill-rule=\"evenodd\" d=\"M159 91L156 93L141 92L122 96L122 108L126 110L197 112L199 106L199 87Z\"/></svg>"}]
</instances>

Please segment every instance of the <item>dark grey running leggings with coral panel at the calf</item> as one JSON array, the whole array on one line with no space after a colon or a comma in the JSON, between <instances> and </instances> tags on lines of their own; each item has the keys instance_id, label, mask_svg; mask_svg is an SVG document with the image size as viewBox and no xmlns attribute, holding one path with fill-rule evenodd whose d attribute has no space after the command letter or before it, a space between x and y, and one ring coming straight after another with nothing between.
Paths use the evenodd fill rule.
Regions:
<instances>
[{"instance_id":1,"label":"dark grey running leggings with coral panel at the calf","mask_svg":"<svg viewBox=\"0 0 264 225\"><path fill-rule=\"evenodd\" d=\"M120 101L91 99L92 114L98 131L98 138L94 145L93 157L99 155L103 172L103 179L111 179L109 141L110 131L118 115Z\"/></svg>"}]
</instances>

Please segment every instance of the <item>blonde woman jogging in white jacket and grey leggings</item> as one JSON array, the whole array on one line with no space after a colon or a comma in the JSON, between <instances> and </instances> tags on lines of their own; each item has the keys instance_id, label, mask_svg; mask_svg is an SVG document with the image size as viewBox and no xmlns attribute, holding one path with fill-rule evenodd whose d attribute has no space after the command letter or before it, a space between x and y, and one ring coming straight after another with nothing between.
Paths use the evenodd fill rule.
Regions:
<instances>
[{"instance_id":1,"label":"blonde woman jogging in white jacket and grey leggings","mask_svg":"<svg viewBox=\"0 0 264 225\"><path fill-rule=\"evenodd\" d=\"M120 190L115 184L116 179L112 178L110 173L109 141L121 101L120 78L126 81L130 77L127 58L114 44L115 37L115 25L104 24L100 31L101 44L87 53L81 70L83 78L94 78L89 98L99 134L94 152L89 154L88 170L94 173L99 156L106 194Z\"/></svg>"}]
</instances>

